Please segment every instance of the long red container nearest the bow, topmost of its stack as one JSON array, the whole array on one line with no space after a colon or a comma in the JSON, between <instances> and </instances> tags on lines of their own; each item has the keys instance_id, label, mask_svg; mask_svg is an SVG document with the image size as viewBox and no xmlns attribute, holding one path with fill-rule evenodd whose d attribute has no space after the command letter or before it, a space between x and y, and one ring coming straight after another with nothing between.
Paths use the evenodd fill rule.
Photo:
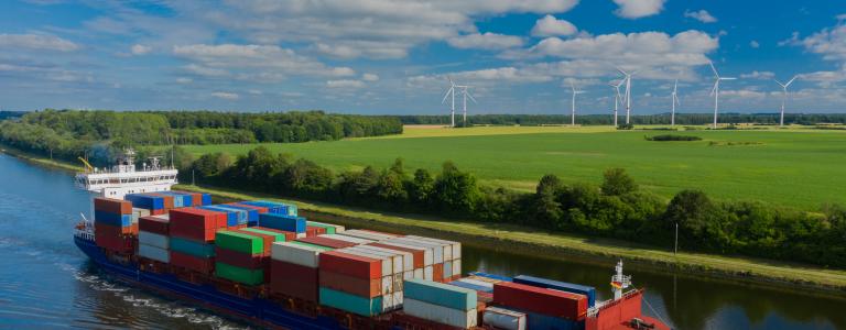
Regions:
<instances>
[{"instance_id":1,"label":"long red container nearest the bow, topmost of its stack","mask_svg":"<svg viewBox=\"0 0 846 330\"><path fill-rule=\"evenodd\" d=\"M494 302L536 314L579 320L587 312L587 297L511 282L494 284Z\"/></svg>"}]
</instances>

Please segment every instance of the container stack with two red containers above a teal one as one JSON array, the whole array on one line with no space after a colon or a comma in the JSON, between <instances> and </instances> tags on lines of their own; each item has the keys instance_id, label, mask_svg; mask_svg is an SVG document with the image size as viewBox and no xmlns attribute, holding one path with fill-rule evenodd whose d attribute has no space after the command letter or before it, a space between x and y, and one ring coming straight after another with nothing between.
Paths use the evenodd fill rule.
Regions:
<instances>
[{"instance_id":1,"label":"container stack with two red containers above a teal one","mask_svg":"<svg viewBox=\"0 0 846 330\"><path fill-rule=\"evenodd\" d=\"M360 316L380 315L393 305L391 258L352 249L319 253L319 302Z\"/></svg>"}]
</instances>

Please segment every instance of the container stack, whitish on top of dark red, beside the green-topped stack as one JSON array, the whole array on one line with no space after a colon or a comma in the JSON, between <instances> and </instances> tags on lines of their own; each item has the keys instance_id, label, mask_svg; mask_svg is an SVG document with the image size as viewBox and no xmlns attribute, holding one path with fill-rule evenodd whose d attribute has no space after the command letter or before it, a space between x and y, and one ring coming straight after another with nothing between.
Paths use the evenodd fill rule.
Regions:
<instances>
[{"instance_id":1,"label":"container stack, whitish on top of dark red, beside the green-topped stack","mask_svg":"<svg viewBox=\"0 0 846 330\"><path fill-rule=\"evenodd\" d=\"M274 242L271 249L271 295L317 302L319 255L333 249L303 242Z\"/></svg>"}]
</instances>

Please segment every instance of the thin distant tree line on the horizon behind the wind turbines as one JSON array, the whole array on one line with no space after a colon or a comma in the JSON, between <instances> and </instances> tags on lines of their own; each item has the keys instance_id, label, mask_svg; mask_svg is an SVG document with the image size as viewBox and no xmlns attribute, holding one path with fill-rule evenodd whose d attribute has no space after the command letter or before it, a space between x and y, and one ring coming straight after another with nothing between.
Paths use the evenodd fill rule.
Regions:
<instances>
[{"instance_id":1,"label":"thin distant tree line on the horizon behind the wind turbines","mask_svg":"<svg viewBox=\"0 0 846 330\"><path fill-rule=\"evenodd\" d=\"M403 124L449 124L449 116L398 116ZM625 120L620 116L620 120ZM709 124L714 120L713 113L676 113L675 123L679 125ZM774 125L779 123L778 113L720 113L720 122L725 123L756 123ZM570 124L570 114L475 114L467 117L470 125L553 125ZM670 113L638 114L631 117L633 124L669 124ZM581 114L576 123L583 125L611 125L611 114ZM844 113L785 113L785 124L814 125L820 123L846 123Z\"/></svg>"}]
</instances>

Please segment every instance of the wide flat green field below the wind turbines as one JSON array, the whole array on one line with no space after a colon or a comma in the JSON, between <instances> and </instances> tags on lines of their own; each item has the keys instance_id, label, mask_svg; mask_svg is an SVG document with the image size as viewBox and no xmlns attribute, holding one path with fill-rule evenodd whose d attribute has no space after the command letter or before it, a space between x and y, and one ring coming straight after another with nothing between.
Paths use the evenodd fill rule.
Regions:
<instances>
[{"instance_id":1,"label":"wide flat green field below the wind turbines","mask_svg":"<svg viewBox=\"0 0 846 330\"><path fill-rule=\"evenodd\" d=\"M846 202L846 132L817 130L687 131L703 141L651 142L658 131L607 128L411 128L399 136L264 144L335 170L389 166L437 170L444 161L490 185L532 190L544 174L598 183L604 169L625 167L646 189L671 197L697 188L716 199L764 200L814 209ZM187 146L194 154L241 154L256 145Z\"/></svg>"}]
</instances>

